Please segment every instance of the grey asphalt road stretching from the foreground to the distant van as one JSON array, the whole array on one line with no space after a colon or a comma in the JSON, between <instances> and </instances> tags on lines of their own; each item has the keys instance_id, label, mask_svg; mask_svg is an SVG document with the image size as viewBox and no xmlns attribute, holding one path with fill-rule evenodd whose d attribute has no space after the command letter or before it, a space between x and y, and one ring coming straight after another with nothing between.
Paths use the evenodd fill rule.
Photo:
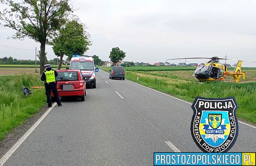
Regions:
<instances>
[{"instance_id":1,"label":"grey asphalt road stretching from the foreground to the distant van","mask_svg":"<svg viewBox=\"0 0 256 166\"><path fill-rule=\"evenodd\" d=\"M191 104L101 70L96 75L97 88L87 89L84 102L62 98L4 166L153 165L154 152L201 152L190 133ZM255 152L255 138L255 128L239 123L229 152Z\"/></svg>"}]
</instances>

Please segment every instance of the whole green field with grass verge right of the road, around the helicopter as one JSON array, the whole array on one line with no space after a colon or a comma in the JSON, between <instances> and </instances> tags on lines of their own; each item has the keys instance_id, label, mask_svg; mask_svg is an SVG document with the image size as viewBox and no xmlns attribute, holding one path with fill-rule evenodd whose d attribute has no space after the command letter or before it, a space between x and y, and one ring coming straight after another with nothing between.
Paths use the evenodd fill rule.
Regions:
<instances>
[{"instance_id":1,"label":"whole green field with grass verge right of the road, around the helicopter","mask_svg":"<svg viewBox=\"0 0 256 166\"><path fill-rule=\"evenodd\" d=\"M100 69L108 72L111 68L100 67ZM156 69L156 67L153 67L153 69ZM236 113L237 117L256 124L255 69L242 69L242 72L243 70L247 72L245 75L247 79L244 81L248 82L244 83L234 83L234 79L232 77L228 78L230 81L228 80L224 82L199 82L192 76L192 70L166 71L161 69L159 71L130 71L127 70L127 68L125 68L125 70L125 79L129 79L161 92L172 94L173 96L189 102L194 102L196 96L206 98L235 96L239 106ZM139 81L137 81L138 74ZM249 75L250 78L248 78ZM243 79L239 80L239 82L242 81Z\"/></svg>"}]
</instances>

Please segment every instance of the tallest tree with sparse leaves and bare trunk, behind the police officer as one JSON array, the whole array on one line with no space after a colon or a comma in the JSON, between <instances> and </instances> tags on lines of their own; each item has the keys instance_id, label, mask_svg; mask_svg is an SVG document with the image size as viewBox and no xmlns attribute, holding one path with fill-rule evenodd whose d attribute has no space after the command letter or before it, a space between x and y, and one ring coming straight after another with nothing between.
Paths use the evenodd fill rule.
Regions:
<instances>
[{"instance_id":1,"label":"tallest tree with sparse leaves and bare trunk, behind the police officer","mask_svg":"<svg viewBox=\"0 0 256 166\"><path fill-rule=\"evenodd\" d=\"M40 42L40 74L44 71L45 45L54 31L65 23L63 19L68 11L70 0L21 0L14 3L12 0L0 0L2 4L10 6L0 12L0 20L4 26L17 32L13 39L29 37Z\"/></svg>"}]
</instances>

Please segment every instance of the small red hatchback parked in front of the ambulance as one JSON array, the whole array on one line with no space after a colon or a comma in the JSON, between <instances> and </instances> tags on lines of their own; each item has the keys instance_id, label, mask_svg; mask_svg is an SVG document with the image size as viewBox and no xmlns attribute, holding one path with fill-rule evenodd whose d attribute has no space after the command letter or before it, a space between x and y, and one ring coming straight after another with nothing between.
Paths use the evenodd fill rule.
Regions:
<instances>
[{"instance_id":1,"label":"small red hatchback parked in front of the ambulance","mask_svg":"<svg viewBox=\"0 0 256 166\"><path fill-rule=\"evenodd\" d=\"M80 70L57 70L58 77L57 81L57 90L59 96L79 96L81 101L84 101L86 96L85 81L83 74ZM55 102L53 93L52 102Z\"/></svg>"}]
</instances>

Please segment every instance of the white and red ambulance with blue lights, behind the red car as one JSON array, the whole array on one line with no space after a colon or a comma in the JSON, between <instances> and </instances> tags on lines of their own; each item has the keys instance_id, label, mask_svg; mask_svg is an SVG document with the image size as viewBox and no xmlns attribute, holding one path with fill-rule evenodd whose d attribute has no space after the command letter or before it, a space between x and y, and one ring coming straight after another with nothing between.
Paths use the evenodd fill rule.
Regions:
<instances>
[{"instance_id":1,"label":"white and red ambulance with blue lights, behind the red car","mask_svg":"<svg viewBox=\"0 0 256 166\"><path fill-rule=\"evenodd\" d=\"M96 88L95 72L98 72L99 68L94 66L92 57L73 55L70 61L69 69L80 70L84 76L86 86Z\"/></svg>"}]
</instances>

